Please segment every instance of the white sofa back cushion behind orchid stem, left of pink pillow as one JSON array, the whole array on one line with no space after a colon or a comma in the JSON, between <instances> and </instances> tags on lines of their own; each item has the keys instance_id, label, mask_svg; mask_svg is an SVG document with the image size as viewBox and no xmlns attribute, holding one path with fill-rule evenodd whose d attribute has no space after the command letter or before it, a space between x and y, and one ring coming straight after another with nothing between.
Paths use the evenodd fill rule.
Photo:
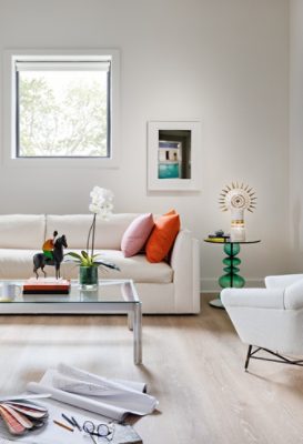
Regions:
<instances>
[{"instance_id":1,"label":"white sofa back cushion behind orchid stem, left of pink pillow","mask_svg":"<svg viewBox=\"0 0 303 444\"><path fill-rule=\"evenodd\" d=\"M112 214L108 221L97 216L94 248L120 250L124 231L137 216L132 213ZM59 235L65 234L70 249L83 249L92 220L92 214L48 214L47 238L52 238L57 230Z\"/></svg>"}]
</instances>

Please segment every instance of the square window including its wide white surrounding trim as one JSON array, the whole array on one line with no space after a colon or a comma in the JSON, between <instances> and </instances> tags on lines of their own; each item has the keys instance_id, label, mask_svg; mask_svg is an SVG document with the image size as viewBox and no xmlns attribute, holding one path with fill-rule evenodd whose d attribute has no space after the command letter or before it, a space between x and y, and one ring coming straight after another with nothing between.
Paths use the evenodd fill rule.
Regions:
<instances>
[{"instance_id":1,"label":"square window including its wide white surrounding trim","mask_svg":"<svg viewBox=\"0 0 303 444\"><path fill-rule=\"evenodd\" d=\"M10 159L117 163L117 51L40 52L9 53Z\"/></svg>"}]
</instances>

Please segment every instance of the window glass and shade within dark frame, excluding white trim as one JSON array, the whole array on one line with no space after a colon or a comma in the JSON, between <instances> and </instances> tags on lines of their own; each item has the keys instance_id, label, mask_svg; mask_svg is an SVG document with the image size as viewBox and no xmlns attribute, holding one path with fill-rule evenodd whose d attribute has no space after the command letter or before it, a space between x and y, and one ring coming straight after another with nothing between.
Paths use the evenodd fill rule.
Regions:
<instances>
[{"instance_id":1,"label":"window glass and shade within dark frame, excluding white trim","mask_svg":"<svg viewBox=\"0 0 303 444\"><path fill-rule=\"evenodd\" d=\"M17 157L110 155L110 62L16 62Z\"/></svg>"}]
</instances>

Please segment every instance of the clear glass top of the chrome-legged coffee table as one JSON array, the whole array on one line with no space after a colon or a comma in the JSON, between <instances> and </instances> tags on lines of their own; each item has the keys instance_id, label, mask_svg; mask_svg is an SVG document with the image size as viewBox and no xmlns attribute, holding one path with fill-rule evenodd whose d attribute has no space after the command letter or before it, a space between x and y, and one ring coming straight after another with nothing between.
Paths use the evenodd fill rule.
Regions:
<instances>
[{"instance_id":1,"label":"clear glass top of the chrome-legged coffee table","mask_svg":"<svg viewBox=\"0 0 303 444\"><path fill-rule=\"evenodd\" d=\"M10 286L10 296L4 286ZM132 280L99 281L97 290L82 290L77 280L71 281L69 294L23 294L22 281L0 281L0 303L140 303Z\"/></svg>"}]
</instances>

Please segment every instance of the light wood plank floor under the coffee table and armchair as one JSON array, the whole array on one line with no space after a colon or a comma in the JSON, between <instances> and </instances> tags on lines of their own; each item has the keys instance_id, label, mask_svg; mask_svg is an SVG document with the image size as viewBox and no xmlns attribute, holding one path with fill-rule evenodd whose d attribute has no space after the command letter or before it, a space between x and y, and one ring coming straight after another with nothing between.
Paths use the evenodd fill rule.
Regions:
<instances>
[{"instance_id":1,"label":"light wood plank floor under the coffee table and armchair","mask_svg":"<svg viewBox=\"0 0 303 444\"><path fill-rule=\"evenodd\" d=\"M252 361L228 314L144 316L132 362L124 316L0 316L0 394L23 391L59 362L147 381L159 412L135 423L144 444L303 443L303 369Z\"/></svg>"}]
</instances>

